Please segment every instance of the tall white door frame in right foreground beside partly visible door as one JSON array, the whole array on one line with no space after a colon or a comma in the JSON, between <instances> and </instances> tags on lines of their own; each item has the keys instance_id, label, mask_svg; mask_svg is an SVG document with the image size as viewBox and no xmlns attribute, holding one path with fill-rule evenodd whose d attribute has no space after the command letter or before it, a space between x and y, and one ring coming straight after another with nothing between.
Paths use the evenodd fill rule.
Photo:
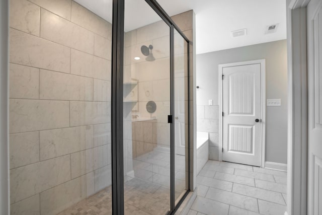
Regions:
<instances>
[{"instance_id":1,"label":"tall white door frame in right foreground beside partly visible door","mask_svg":"<svg viewBox=\"0 0 322 215\"><path fill-rule=\"evenodd\" d=\"M306 6L310 0L287 0L288 132L287 213L306 214L307 71Z\"/></svg>"}]
</instances>

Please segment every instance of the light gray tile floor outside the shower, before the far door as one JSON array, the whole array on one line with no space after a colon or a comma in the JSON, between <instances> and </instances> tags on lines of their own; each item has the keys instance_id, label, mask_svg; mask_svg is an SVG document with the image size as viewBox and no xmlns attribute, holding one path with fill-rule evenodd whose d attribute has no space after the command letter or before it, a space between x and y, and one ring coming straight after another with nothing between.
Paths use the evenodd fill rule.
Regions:
<instances>
[{"instance_id":1,"label":"light gray tile floor outside the shower, before the far door","mask_svg":"<svg viewBox=\"0 0 322 215\"><path fill-rule=\"evenodd\" d=\"M189 215L284 215L286 172L208 161Z\"/></svg>"}]
</instances>

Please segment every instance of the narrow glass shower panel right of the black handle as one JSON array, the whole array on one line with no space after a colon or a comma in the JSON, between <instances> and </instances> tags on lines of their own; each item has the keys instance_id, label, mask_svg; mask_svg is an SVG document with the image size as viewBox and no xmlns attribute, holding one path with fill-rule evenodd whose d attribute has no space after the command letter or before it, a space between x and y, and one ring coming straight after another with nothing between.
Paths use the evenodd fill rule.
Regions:
<instances>
[{"instance_id":1,"label":"narrow glass shower panel right of the black handle","mask_svg":"<svg viewBox=\"0 0 322 215\"><path fill-rule=\"evenodd\" d=\"M188 181L188 42L174 30L175 198L189 188Z\"/></svg>"}]
</instances>

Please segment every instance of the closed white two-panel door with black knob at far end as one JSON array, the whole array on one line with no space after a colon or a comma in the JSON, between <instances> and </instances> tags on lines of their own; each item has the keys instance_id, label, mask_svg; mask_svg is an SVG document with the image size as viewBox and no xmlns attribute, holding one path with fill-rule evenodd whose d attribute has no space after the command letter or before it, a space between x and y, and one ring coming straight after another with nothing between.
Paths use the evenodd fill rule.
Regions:
<instances>
[{"instance_id":1,"label":"closed white two-panel door with black knob at far end","mask_svg":"<svg viewBox=\"0 0 322 215\"><path fill-rule=\"evenodd\" d=\"M222 160L260 166L261 63L225 64L222 74Z\"/></svg>"}]
</instances>

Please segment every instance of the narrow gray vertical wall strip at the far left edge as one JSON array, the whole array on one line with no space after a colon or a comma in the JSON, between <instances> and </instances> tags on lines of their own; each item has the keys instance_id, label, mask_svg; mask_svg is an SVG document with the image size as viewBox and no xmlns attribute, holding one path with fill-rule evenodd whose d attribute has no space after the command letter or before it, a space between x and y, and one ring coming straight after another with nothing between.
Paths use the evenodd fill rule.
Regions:
<instances>
[{"instance_id":1,"label":"narrow gray vertical wall strip at the far left edge","mask_svg":"<svg viewBox=\"0 0 322 215\"><path fill-rule=\"evenodd\" d=\"M9 214L8 1L0 1L0 214Z\"/></svg>"}]
</instances>

